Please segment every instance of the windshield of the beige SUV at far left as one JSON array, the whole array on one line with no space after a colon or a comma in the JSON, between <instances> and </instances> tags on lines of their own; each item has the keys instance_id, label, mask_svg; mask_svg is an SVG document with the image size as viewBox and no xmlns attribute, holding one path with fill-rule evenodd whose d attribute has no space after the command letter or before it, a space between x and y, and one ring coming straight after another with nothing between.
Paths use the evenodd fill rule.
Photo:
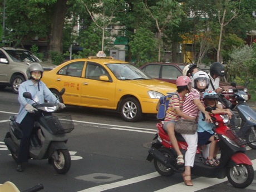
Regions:
<instances>
[{"instance_id":1,"label":"windshield of the beige SUV at far left","mask_svg":"<svg viewBox=\"0 0 256 192\"><path fill-rule=\"evenodd\" d=\"M42 62L33 53L26 50L5 50L14 62Z\"/></svg>"}]
</instances>

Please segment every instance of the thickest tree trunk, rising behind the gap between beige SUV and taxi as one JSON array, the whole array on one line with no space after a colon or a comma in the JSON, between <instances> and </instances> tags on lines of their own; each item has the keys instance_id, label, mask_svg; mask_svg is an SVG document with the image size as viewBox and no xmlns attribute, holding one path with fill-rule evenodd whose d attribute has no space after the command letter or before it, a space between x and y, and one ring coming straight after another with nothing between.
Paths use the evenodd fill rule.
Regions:
<instances>
[{"instance_id":1,"label":"thickest tree trunk, rising behind the gap between beige SUV and taxi","mask_svg":"<svg viewBox=\"0 0 256 192\"><path fill-rule=\"evenodd\" d=\"M62 35L67 11L67 0L57 0L50 36L50 50L62 53Z\"/></svg>"}]
</instances>

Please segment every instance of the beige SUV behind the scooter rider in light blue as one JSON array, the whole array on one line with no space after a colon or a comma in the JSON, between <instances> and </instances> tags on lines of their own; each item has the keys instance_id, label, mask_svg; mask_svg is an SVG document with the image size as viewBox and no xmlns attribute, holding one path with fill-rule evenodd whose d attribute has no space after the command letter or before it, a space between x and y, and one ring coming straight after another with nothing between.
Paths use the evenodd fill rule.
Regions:
<instances>
[{"instance_id":1,"label":"beige SUV behind the scooter rider in light blue","mask_svg":"<svg viewBox=\"0 0 256 192\"><path fill-rule=\"evenodd\" d=\"M22 48L0 47L0 89L12 87L14 93L18 93L19 85L27 80L27 67L29 64L42 61L32 52ZM42 64L44 70L54 68L51 65Z\"/></svg>"}]
</instances>

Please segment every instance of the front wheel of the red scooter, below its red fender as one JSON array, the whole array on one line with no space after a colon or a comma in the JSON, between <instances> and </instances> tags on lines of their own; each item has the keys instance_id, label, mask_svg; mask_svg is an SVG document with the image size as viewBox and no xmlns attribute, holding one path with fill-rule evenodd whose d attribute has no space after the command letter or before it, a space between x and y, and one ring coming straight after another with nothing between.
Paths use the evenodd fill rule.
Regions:
<instances>
[{"instance_id":1,"label":"front wheel of the red scooter, below its red fender","mask_svg":"<svg viewBox=\"0 0 256 192\"><path fill-rule=\"evenodd\" d=\"M229 182L235 188L246 188L252 184L254 179L254 170L252 165L239 164L228 168L227 177Z\"/></svg>"}]
</instances>

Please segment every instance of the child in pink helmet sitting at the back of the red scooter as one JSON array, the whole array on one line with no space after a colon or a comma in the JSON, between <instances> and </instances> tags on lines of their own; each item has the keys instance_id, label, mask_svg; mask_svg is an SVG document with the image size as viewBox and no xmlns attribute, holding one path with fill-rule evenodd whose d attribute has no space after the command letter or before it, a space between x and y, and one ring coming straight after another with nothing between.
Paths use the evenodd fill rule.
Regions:
<instances>
[{"instance_id":1,"label":"child in pink helmet sitting at the back of the red scooter","mask_svg":"<svg viewBox=\"0 0 256 192\"><path fill-rule=\"evenodd\" d=\"M171 144L173 144L174 150L177 153L177 164L183 165L184 164L184 157L181 153L178 145L178 141L175 137L174 127L176 122L178 122L179 117L184 117L185 119L193 120L190 116L181 112L181 107L185 100L186 93L189 93L191 89L191 80L188 76L180 76L176 80L176 86L178 88L177 92L178 95L174 95L170 98L169 105L168 105L168 112L164 119L164 130L167 131Z\"/></svg>"}]
</instances>

